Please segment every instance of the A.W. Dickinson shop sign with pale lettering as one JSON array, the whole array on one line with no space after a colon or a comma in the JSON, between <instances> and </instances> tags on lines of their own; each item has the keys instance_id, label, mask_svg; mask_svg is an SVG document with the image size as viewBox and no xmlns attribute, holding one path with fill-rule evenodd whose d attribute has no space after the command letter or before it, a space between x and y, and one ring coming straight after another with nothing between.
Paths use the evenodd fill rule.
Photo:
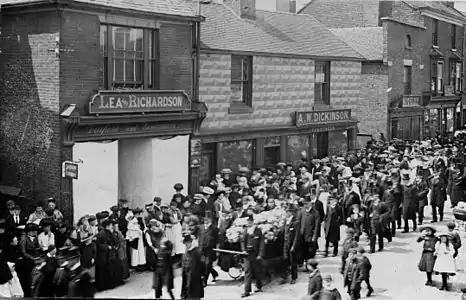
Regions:
<instances>
[{"instance_id":1,"label":"A.W. Dickinson shop sign with pale lettering","mask_svg":"<svg viewBox=\"0 0 466 300\"><path fill-rule=\"evenodd\" d=\"M297 111L295 115L296 126L323 125L349 120L351 120L351 109Z\"/></svg>"}]
</instances>

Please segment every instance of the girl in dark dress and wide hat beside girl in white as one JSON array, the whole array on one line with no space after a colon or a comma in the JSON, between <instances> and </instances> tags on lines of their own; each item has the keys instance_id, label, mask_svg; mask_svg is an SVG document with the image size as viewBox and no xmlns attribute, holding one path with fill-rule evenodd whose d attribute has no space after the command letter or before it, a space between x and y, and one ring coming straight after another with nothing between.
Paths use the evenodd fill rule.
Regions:
<instances>
[{"instance_id":1,"label":"girl in dark dress and wide hat beside girl in white","mask_svg":"<svg viewBox=\"0 0 466 300\"><path fill-rule=\"evenodd\" d=\"M432 226L422 226L421 228L422 235L417 239L417 242L420 243L424 241L422 247L421 260L419 261L419 271L425 272L427 275L426 285L432 285L432 273L434 272L435 264L435 244L437 243L437 237L435 236L435 228Z\"/></svg>"}]
</instances>

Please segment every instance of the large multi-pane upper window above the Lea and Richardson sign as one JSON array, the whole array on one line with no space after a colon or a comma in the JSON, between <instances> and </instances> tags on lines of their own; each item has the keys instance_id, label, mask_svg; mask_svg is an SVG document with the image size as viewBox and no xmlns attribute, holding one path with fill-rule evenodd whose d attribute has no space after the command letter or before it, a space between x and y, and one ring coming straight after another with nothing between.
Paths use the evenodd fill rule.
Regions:
<instances>
[{"instance_id":1,"label":"large multi-pane upper window above the Lea and Richardson sign","mask_svg":"<svg viewBox=\"0 0 466 300\"><path fill-rule=\"evenodd\" d=\"M157 88L157 40L157 30L101 25L101 85L109 90Z\"/></svg>"}]
</instances>

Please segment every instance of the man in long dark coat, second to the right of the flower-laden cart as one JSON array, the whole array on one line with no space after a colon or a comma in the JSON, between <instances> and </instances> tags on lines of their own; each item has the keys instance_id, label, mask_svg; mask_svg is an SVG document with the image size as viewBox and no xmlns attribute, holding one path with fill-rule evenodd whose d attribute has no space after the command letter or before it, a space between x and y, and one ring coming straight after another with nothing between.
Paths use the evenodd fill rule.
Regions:
<instances>
[{"instance_id":1,"label":"man in long dark coat, second to the right of the flower-laden cart","mask_svg":"<svg viewBox=\"0 0 466 300\"><path fill-rule=\"evenodd\" d=\"M297 222L299 229L298 261L302 263L315 257L317 239L320 234L320 216L311 201L306 201L304 207L298 212Z\"/></svg>"}]
</instances>

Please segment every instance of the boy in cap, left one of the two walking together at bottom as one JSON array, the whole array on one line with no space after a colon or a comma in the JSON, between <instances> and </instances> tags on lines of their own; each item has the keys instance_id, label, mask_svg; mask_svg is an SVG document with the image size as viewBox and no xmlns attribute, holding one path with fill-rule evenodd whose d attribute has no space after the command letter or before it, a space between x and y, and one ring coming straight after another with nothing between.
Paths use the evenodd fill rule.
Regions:
<instances>
[{"instance_id":1,"label":"boy in cap, left one of the two walking together at bottom","mask_svg":"<svg viewBox=\"0 0 466 300\"><path fill-rule=\"evenodd\" d=\"M361 299L361 283L364 278L361 263L356 256L357 250L352 248L348 254L348 264L343 273L343 286L347 288L351 300Z\"/></svg>"}]
</instances>

